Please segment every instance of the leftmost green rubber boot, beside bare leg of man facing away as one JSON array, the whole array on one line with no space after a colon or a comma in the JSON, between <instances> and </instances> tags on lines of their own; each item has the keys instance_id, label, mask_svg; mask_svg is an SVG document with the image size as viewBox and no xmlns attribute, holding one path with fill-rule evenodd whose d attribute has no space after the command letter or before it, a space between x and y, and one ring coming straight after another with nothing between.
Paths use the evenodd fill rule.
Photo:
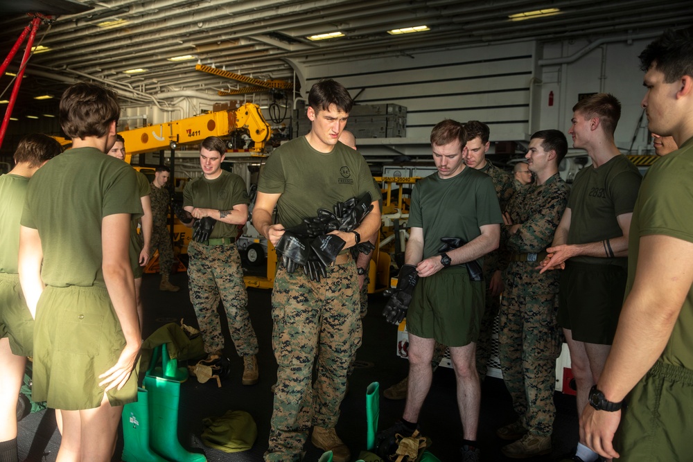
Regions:
<instances>
[{"instance_id":1,"label":"leftmost green rubber boot, beside bare leg of man facing away","mask_svg":"<svg viewBox=\"0 0 693 462\"><path fill-rule=\"evenodd\" d=\"M123 406L124 462L168 462L149 447L148 394L137 389L137 402Z\"/></svg>"}]
</instances>

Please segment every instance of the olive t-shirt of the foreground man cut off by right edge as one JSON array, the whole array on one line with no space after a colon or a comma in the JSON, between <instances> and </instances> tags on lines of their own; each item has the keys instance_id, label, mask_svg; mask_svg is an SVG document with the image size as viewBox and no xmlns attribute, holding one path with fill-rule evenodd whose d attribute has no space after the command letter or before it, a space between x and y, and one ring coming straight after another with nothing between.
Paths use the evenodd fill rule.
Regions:
<instances>
[{"instance_id":1,"label":"olive t-shirt of the foreground man cut off by right edge","mask_svg":"<svg viewBox=\"0 0 693 462\"><path fill-rule=\"evenodd\" d=\"M640 238L661 235L693 242L692 178L693 138L677 151L658 159L642 179L628 236L626 298L635 281ZM649 283L656 284L657 281ZM656 310L656 306L652 308ZM693 286L688 290L660 359L693 371Z\"/></svg>"}]
</instances>

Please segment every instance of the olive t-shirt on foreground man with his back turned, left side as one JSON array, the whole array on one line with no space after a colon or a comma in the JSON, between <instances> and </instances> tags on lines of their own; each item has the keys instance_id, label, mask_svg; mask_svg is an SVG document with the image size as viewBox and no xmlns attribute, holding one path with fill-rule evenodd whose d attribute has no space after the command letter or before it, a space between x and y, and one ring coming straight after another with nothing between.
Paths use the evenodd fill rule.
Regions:
<instances>
[{"instance_id":1,"label":"olive t-shirt on foreground man with his back turned, left side","mask_svg":"<svg viewBox=\"0 0 693 462\"><path fill-rule=\"evenodd\" d=\"M135 171L95 148L68 150L29 181L21 224L37 229L46 285L105 286L101 222L118 213L142 215Z\"/></svg>"}]
</instances>

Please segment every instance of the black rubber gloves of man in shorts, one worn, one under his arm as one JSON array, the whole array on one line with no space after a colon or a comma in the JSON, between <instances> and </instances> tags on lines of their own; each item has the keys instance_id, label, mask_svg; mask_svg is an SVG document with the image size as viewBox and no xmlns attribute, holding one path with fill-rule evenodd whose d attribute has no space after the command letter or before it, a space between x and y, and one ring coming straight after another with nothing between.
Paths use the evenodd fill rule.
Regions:
<instances>
[{"instance_id":1,"label":"black rubber gloves of man in shorts, one worn, one under his arm","mask_svg":"<svg viewBox=\"0 0 693 462\"><path fill-rule=\"evenodd\" d=\"M438 249L439 254L457 249L466 244L460 238L440 238L440 240L443 242L443 245ZM471 281L483 280L481 266L476 260L465 263L465 265ZM387 322L392 324L402 322L409 309L409 304L412 303L412 293L414 293L414 287L416 287L418 281L419 274L416 273L414 265L403 265L401 267L397 276L397 287L385 291L385 295L389 295L389 300L385 303L385 309L383 310L383 317L385 317Z\"/></svg>"}]
</instances>

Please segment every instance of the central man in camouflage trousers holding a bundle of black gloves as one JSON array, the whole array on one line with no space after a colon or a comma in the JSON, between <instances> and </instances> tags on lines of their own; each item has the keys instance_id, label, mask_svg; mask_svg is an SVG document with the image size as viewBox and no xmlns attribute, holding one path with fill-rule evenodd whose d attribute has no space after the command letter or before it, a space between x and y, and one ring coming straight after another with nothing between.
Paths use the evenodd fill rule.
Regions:
<instances>
[{"instance_id":1,"label":"central man in camouflage trousers holding a bundle of black gloves","mask_svg":"<svg viewBox=\"0 0 693 462\"><path fill-rule=\"evenodd\" d=\"M380 195L363 157L337 141L352 105L340 83L317 82L308 94L310 132L274 150L260 173L253 224L272 244L278 246L295 226L331 229L308 241L317 258L307 260L309 274L289 272L282 264L274 278L272 344L279 368L265 461L299 461L311 426L313 445L333 451L335 462L351 460L335 432L347 368L361 344L358 278L349 248L380 227L377 201L367 204L373 210L360 224L352 216L353 211L358 215L364 193ZM354 197L359 199L351 200ZM356 227L349 229L351 224ZM335 238L344 246L332 263L329 258L339 243ZM311 278L317 274L319 281Z\"/></svg>"}]
</instances>

